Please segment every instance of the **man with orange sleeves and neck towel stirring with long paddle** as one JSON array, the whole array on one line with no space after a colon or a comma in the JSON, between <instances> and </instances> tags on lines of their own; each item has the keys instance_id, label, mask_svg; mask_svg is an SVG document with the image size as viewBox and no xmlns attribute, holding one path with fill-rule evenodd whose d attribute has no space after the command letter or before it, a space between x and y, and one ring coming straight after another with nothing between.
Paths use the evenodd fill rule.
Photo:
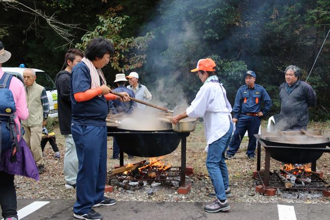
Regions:
<instances>
[{"instance_id":1,"label":"man with orange sleeves and neck towel stirring with long paddle","mask_svg":"<svg viewBox=\"0 0 330 220\"><path fill-rule=\"evenodd\" d=\"M101 37L93 39L86 47L85 57L71 74L71 131L79 161L77 201L73 212L79 219L101 220L103 216L92 207L116 204L116 200L104 196L107 175L106 117L109 112L107 100L129 101L129 98L126 92L122 92L125 96L122 99L109 94L111 89L101 68L108 64L113 52L109 40Z\"/></svg>"}]
</instances>

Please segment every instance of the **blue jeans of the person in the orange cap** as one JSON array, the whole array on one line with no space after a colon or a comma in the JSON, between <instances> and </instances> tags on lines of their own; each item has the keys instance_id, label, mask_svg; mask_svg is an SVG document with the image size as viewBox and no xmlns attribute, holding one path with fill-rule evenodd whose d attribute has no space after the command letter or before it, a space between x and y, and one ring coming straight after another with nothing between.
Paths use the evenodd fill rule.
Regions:
<instances>
[{"instance_id":1,"label":"blue jeans of the person in the orange cap","mask_svg":"<svg viewBox=\"0 0 330 220\"><path fill-rule=\"evenodd\" d=\"M230 123L230 128L227 133L209 145L206 158L206 167L214 186L215 195L219 200L226 199L226 193L224 191L229 187L228 170L224 161L224 156L232 133L233 124Z\"/></svg>"}]
</instances>

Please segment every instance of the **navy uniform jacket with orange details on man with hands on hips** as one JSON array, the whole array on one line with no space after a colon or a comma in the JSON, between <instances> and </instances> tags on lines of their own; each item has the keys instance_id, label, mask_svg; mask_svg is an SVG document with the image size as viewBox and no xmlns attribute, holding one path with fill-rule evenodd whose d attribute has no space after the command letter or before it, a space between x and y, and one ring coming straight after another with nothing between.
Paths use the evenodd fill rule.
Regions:
<instances>
[{"instance_id":1,"label":"navy uniform jacket with orange details on man with hands on hips","mask_svg":"<svg viewBox=\"0 0 330 220\"><path fill-rule=\"evenodd\" d=\"M261 101L263 102L262 110ZM262 111L263 115L267 115L271 107L272 101L265 88L258 84L254 84L253 88L243 85L236 93L233 108L234 118L239 118L240 114L257 113L259 111Z\"/></svg>"}]
</instances>

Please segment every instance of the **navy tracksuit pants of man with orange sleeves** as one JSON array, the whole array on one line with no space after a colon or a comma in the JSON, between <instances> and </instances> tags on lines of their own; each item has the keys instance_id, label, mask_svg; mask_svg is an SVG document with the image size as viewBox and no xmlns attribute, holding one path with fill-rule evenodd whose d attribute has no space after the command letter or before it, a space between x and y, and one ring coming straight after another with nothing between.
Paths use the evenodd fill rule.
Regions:
<instances>
[{"instance_id":1,"label":"navy tracksuit pants of man with orange sleeves","mask_svg":"<svg viewBox=\"0 0 330 220\"><path fill-rule=\"evenodd\" d=\"M105 199L107 127L72 124L71 131L79 161L73 211L82 215Z\"/></svg>"}]
</instances>

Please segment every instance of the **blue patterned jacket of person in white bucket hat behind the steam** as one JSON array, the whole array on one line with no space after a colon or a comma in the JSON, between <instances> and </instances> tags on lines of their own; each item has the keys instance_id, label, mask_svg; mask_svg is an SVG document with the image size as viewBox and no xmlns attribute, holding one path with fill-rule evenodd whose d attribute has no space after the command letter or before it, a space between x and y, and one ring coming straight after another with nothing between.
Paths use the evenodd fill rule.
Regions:
<instances>
[{"instance_id":1,"label":"blue patterned jacket of person in white bucket hat behind the steam","mask_svg":"<svg viewBox=\"0 0 330 220\"><path fill-rule=\"evenodd\" d=\"M134 91L126 88L123 85L120 85L118 88L114 89L115 92L127 92L128 95L132 98L135 98ZM113 114L118 114L121 112L125 112L126 114L131 114L133 109L137 106L137 103L134 101L129 102L120 102L118 100L111 100L109 101L110 111Z\"/></svg>"}]
</instances>

